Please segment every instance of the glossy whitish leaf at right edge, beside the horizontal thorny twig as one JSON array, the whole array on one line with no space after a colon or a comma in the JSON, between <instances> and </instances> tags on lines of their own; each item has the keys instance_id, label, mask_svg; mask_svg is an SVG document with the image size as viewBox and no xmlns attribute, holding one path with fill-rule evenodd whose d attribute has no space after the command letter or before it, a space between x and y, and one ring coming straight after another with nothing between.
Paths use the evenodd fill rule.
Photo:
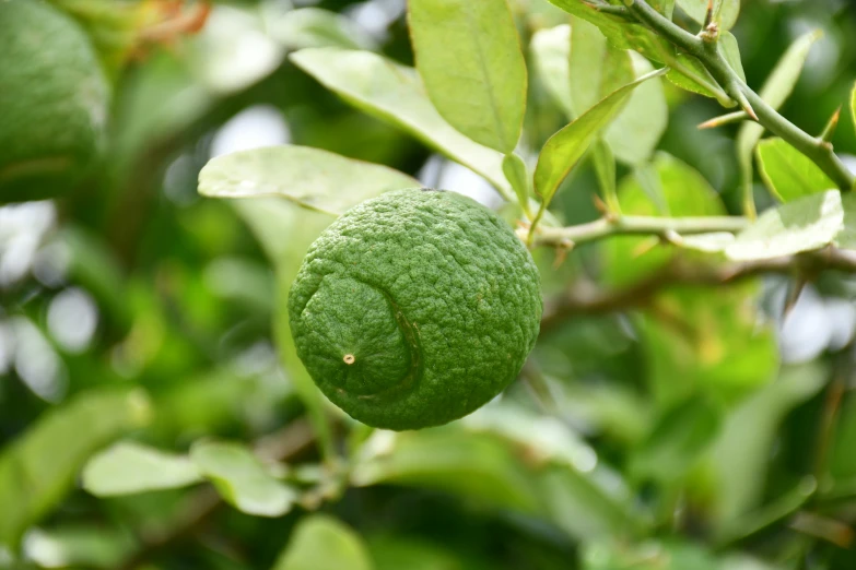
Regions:
<instances>
[{"instance_id":1,"label":"glossy whitish leaf at right edge, beside the horizontal thorny twig","mask_svg":"<svg viewBox=\"0 0 856 570\"><path fill-rule=\"evenodd\" d=\"M841 194L831 190L767 210L725 252L737 261L793 256L832 244L843 227Z\"/></svg>"}]
</instances>

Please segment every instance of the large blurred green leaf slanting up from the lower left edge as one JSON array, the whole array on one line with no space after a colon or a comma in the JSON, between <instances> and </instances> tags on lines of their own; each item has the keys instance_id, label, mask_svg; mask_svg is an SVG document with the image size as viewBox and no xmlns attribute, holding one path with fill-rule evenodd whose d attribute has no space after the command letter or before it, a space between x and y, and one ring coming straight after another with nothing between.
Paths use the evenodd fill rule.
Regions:
<instances>
[{"instance_id":1,"label":"large blurred green leaf slanting up from the lower left edge","mask_svg":"<svg viewBox=\"0 0 856 570\"><path fill-rule=\"evenodd\" d=\"M139 391L89 392L47 412L0 454L0 544L14 549L24 531L71 490L86 460L151 416Z\"/></svg>"}]
</instances>

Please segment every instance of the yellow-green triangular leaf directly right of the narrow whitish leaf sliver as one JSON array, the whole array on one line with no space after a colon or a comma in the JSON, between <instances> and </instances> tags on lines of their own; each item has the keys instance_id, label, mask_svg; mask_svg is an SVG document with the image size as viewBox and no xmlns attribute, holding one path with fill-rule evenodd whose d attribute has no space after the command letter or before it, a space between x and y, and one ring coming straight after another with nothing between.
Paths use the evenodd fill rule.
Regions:
<instances>
[{"instance_id":1,"label":"yellow-green triangular leaf directly right of the narrow whitish leaf sliver","mask_svg":"<svg viewBox=\"0 0 856 570\"><path fill-rule=\"evenodd\" d=\"M635 74L630 52L609 44L595 25L572 17L571 29L571 102L574 117L581 117Z\"/></svg>"}]
</instances>

